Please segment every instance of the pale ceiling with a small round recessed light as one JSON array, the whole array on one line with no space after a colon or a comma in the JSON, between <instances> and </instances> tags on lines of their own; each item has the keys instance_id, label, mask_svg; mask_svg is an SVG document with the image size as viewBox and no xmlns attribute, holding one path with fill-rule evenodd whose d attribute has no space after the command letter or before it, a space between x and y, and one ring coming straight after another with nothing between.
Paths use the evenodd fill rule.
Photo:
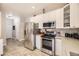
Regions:
<instances>
[{"instance_id":1,"label":"pale ceiling with a small round recessed light","mask_svg":"<svg viewBox=\"0 0 79 59\"><path fill-rule=\"evenodd\" d=\"M61 8L66 3L1 3L1 10L11 12L24 17L31 17L42 13L43 8L46 12ZM33 8L32 8L33 7Z\"/></svg>"}]
</instances>

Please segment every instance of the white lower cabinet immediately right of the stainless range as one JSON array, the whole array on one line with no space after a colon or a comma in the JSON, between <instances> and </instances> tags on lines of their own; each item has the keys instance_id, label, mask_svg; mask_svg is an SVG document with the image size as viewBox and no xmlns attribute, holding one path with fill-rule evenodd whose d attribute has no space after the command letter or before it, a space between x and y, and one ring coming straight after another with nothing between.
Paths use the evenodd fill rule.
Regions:
<instances>
[{"instance_id":1,"label":"white lower cabinet immediately right of the stainless range","mask_svg":"<svg viewBox=\"0 0 79 59\"><path fill-rule=\"evenodd\" d=\"M62 39L56 38L56 55L62 56Z\"/></svg>"}]
</instances>

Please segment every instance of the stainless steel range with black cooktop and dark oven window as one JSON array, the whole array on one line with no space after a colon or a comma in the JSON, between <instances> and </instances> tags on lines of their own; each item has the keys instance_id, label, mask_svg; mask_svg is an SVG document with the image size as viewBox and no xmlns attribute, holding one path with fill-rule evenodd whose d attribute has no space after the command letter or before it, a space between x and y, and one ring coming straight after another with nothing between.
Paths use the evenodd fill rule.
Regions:
<instances>
[{"instance_id":1,"label":"stainless steel range with black cooktop and dark oven window","mask_svg":"<svg viewBox=\"0 0 79 59\"><path fill-rule=\"evenodd\" d=\"M55 55L55 33L46 32L42 37L42 51L49 54Z\"/></svg>"}]
</instances>

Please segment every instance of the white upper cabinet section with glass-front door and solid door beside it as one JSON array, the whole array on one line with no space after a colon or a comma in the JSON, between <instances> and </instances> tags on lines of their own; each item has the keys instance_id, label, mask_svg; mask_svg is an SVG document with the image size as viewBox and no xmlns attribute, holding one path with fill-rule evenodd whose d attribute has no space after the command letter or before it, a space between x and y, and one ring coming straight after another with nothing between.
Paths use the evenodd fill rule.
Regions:
<instances>
[{"instance_id":1,"label":"white upper cabinet section with glass-front door and solid door beside it","mask_svg":"<svg viewBox=\"0 0 79 59\"><path fill-rule=\"evenodd\" d=\"M79 28L79 4L67 4L63 8L64 12L64 28Z\"/></svg>"}]
</instances>

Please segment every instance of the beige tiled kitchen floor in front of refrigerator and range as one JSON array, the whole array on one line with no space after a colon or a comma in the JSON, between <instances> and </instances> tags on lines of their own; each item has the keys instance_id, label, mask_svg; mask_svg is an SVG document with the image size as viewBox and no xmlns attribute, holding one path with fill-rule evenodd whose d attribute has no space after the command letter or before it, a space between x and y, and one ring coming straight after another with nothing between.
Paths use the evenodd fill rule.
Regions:
<instances>
[{"instance_id":1,"label":"beige tiled kitchen floor in front of refrigerator and range","mask_svg":"<svg viewBox=\"0 0 79 59\"><path fill-rule=\"evenodd\" d=\"M31 51L24 48L22 42L16 40L9 39L7 43L7 47L4 50L4 56L49 56L37 49Z\"/></svg>"}]
</instances>

